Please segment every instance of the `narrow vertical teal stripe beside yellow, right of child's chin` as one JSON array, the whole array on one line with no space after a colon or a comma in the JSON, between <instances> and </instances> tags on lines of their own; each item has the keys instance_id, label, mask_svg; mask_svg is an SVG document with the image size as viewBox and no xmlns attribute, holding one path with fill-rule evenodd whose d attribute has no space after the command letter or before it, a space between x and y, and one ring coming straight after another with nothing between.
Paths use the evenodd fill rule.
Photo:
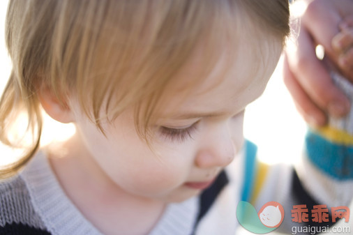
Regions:
<instances>
[{"instance_id":1,"label":"narrow vertical teal stripe beside yellow, right of child's chin","mask_svg":"<svg viewBox=\"0 0 353 235\"><path fill-rule=\"evenodd\" d=\"M244 144L245 148L245 171L244 171L244 185L243 193L241 195L241 201L248 202L253 191L253 185L255 181L255 172L257 169L256 164L256 152L257 146L246 140Z\"/></svg>"}]
</instances>

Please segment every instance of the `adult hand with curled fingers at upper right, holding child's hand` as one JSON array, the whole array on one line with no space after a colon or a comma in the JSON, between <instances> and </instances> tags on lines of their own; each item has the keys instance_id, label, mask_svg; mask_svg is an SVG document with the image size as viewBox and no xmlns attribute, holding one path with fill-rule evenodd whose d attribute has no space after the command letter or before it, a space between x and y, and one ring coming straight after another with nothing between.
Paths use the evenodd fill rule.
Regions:
<instances>
[{"instance_id":1,"label":"adult hand with curled fingers at upper right, holding child's hand","mask_svg":"<svg viewBox=\"0 0 353 235\"><path fill-rule=\"evenodd\" d=\"M285 84L304 119L314 125L326 123L326 114L343 116L349 100L333 85L326 61L317 59L316 45L323 45L326 58L338 67L338 54L332 39L338 24L353 13L352 0L314 0L301 17L296 48L287 48L284 62Z\"/></svg>"}]
</instances>

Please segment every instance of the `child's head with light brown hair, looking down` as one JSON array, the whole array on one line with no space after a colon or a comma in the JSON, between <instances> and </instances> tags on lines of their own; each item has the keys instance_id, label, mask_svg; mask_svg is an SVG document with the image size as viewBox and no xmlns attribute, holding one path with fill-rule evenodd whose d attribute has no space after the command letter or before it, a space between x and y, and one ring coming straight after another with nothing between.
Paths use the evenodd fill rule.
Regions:
<instances>
[{"instance_id":1,"label":"child's head with light brown hair, looking down","mask_svg":"<svg viewBox=\"0 0 353 235\"><path fill-rule=\"evenodd\" d=\"M20 105L40 132L41 105L76 124L126 191L186 199L197 190L181 184L211 181L241 148L243 109L276 66L288 18L287 0L10 1L1 137Z\"/></svg>"}]
</instances>

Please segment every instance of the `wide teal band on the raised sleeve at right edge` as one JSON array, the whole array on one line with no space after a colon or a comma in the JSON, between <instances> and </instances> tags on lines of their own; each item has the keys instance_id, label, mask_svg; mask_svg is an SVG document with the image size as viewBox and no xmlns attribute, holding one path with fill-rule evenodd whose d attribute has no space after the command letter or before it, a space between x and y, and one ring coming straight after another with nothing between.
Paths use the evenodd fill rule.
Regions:
<instances>
[{"instance_id":1,"label":"wide teal band on the raised sleeve at right edge","mask_svg":"<svg viewBox=\"0 0 353 235\"><path fill-rule=\"evenodd\" d=\"M309 130L306 154L315 166L334 179L353 179L353 146L335 144Z\"/></svg>"}]
</instances>

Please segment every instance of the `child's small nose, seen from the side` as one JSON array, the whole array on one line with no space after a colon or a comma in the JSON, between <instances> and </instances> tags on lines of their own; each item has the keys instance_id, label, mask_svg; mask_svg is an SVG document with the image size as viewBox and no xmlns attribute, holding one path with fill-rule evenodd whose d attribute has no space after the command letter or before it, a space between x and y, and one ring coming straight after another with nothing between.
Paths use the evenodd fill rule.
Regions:
<instances>
[{"instance_id":1,"label":"child's small nose, seen from the side","mask_svg":"<svg viewBox=\"0 0 353 235\"><path fill-rule=\"evenodd\" d=\"M216 128L215 128L216 129ZM200 168L226 167L236 155L236 145L227 125L210 131L200 146L195 165Z\"/></svg>"}]
</instances>

